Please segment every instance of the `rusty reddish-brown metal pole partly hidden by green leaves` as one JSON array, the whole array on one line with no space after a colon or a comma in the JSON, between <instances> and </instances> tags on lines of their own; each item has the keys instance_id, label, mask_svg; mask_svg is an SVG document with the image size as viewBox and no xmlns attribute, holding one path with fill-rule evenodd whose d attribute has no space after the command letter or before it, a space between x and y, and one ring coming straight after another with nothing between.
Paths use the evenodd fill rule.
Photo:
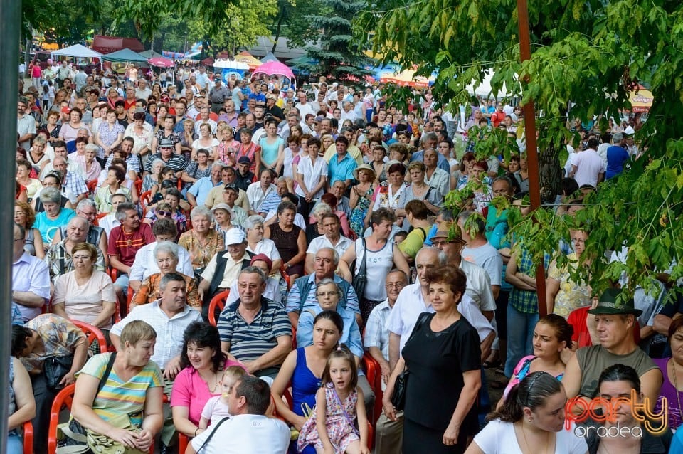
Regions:
<instances>
[{"instance_id":1,"label":"rusty reddish-brown metal pole partly hidden by green leaves","mask_svg":"<svg viewBox=\"0 0 683 454\"><path fill-rule=\"evenodd\" d=\"M517 0L519 18L519 57L521 61L531 59L531 37L529 36L529 9L526 0ZM536 112L534 101L524 107L524 137L526 137L526 162L529 164L529 198L531 209L541 206L541 182L539 180L539 149L536 145ZM536 268L536 293L539 297L539 315L546 315L546 279L543 263Z\"/></svg>"}]
</instances>

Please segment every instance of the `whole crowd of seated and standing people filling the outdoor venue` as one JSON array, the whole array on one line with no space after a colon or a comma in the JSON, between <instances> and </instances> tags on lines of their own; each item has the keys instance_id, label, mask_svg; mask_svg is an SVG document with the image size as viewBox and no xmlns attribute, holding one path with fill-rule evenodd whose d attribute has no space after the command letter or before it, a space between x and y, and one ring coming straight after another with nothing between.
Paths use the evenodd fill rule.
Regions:
<instances>
[{"instance_id":1,"label":"whole crowd of seated and standing people filling the outdoor venue","mask_svg":"<svg viewBox=\"0 0 683 454\"><path fill-rule=\"evenodd\" d=\"M26 421L46 452L71 384L63 443L87 433L93 450L173 453L180 434L187 453L683 452L676 283L596 295L576 278L593 259L578 228L548 253L539 316L536 266L509 235L530 211L521 108L481 100L459 128L430 95L402 111L381 84L33 68L10 453ZM640 157L640 118L568 127L581 141L556 216ZM511 157L475 154L494 129Z\"/></svg>"}]
</instances>

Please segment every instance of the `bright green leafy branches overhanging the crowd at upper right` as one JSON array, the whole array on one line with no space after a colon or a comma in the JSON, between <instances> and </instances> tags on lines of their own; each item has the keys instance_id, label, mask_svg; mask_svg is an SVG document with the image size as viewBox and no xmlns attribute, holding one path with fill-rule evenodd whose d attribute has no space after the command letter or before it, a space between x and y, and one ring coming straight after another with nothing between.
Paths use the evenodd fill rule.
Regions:
<instances>
[{"instance_id":1,"label":"bright green leafy branches overhanging the crowd at upper right","mask_svg":"<svg viewBox=\"0 0 683 454\"><path fill-rule=\"evenodd\" d=\"M422 74L438 68L433 95L447 107L469 106L467 85L483 80L485 70L495 72L494 92L504 83L522 103L533 100L536 112L543 112L537 127L546 199L554 194L544 179L556 174L559 151L574 139L566 129L569 107L569 115L582 120L604 115L604 127L606 118L628 110L628 94L637 83L648 85L654 102L636 134L644 156L600 186L576 218L539 209L514 226L512 235L540 260L582 223L590 231L586 252L592 260L576 268L595 294L622 272L628 292L637 285L648 289L674 260L679 265L672 267L671 279L682 277L683 4L558 0L529 1L528 7L531 59L524 63L516 0L377 0L359 13L354 32L385 61L418 65ZM480 144L477 155L501 146L494 142ZM625 251L625 264L608 263L605 252L613 250Z\"/></svg>"}]
</instances>

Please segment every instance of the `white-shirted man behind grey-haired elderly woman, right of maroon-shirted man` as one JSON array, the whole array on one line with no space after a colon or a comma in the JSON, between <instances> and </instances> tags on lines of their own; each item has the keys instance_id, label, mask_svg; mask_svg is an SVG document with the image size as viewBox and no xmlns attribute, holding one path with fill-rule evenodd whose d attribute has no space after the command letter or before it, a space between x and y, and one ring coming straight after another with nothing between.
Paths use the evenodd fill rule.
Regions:
<instances>
[{"instance_id":1,"label":"white-shirted man behind grey-haired elderly woman, right of maroon-shirted man","mask_svg":"<svg viewBox=\"0 0 683 454\"><path fill-rule=\"evenodd\" d=\"M140 284L142 284L143 280L149 278L150 275L160 272L159 264L157 263L157 246L162 242L175 241L176 236L178 236L178 228L173 219L159 218L154 223L154 226L152 226L152 233L154 233L154 238L157 241L142 246L135 253L135 260L130 267L129 285L135 292L140 290ZM171 244L171 248L175 250L173 255L178 259L176 271L186 276L194 276L190 253L182 246L178 246L175 243Z\"/></svg>"}]
</instances>

